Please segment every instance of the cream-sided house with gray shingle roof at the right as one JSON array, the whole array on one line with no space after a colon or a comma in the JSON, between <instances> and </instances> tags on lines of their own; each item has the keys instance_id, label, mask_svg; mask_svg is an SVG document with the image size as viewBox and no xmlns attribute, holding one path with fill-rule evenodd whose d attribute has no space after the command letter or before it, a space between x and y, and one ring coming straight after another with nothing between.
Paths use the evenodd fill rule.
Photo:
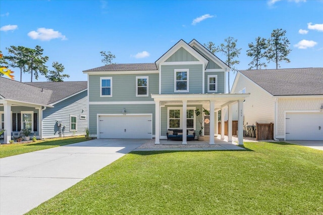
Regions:
<instances>
[{"instance_id":1,"label":"cream-sided house with gray shingle roof at the right","mask_svg":"<svg viewBox=\"0 0 323 215\"><path fill-rule=\"evenodd\" d=\"M231 93L241 92L250 93L245 125L274 123L280 140L323 140L323 68L241 70Z\"/></svg>"}]
</instances>

